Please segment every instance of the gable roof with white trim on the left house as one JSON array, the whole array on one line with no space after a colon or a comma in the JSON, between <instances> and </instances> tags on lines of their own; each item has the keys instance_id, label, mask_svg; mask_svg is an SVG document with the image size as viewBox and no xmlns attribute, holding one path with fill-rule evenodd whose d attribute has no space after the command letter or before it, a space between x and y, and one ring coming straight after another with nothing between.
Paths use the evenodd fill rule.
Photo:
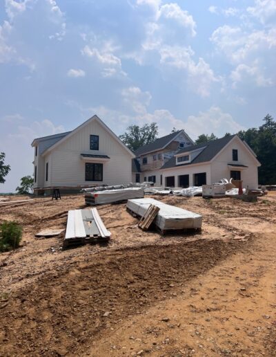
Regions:
<instances>
[{"instance_id":1,"label":"gable roof with white trim on the left house","mask_svg":"<svg viewBox=\"0 0 276 357\"><path fill-rule=\"evenodd\" d=\"M114 138L117 143L119 143L121 146L124 147L124 149L126 149L126 151L128 152L128 154L130 154L130 156L132 156L132 158L135 157L135 154L133 154L133 152L128 149L128 147L126 147L126 145L124 145L124 143L118 138L118 136L116 134L113 133L113 131L111 129L109 129L109 127L104 124L104 122L97 116L92 116L90 119L86 120L86 122L83 122L81 125L79 125L79 127L77 127L76 129L72 130L72 131L67 131L66 133L61 133L61 134L56 134L56 136L61 136L60 138L57 138L58 140L54 140L55 143L52 143L50 146L48 146L47 149L45 149L43 151L43 156L46 155L46 153L50 152L52 149L55 149L55 147L57 147L57 145L63 143L65 140L67 140L68 138L70 138L72 135L74 135L75 133L77 133L77 131L83 129L83 127L86 127L86 125L88 125L90 122L92 122L93 120L97 120L97 122L99 122L99 124L106 129L106 131L108 131L108 133L110 134L110 136L112 136L112 138ZM34 145L34 142L36 142L36 140L49 140L50 136L44 136L43 138L38 138L38 139L34 139L32 142L32 146ZM38 141L39 143L39 141Z\"/></svg>"}]
</instances>

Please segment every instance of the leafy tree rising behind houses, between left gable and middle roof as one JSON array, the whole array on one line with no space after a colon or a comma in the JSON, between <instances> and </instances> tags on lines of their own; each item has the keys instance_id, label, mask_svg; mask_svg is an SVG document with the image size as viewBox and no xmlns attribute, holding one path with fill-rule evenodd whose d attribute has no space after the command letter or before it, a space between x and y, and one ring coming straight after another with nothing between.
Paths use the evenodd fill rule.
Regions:
<instances>
[{"instance_id":1,"label":"leafy tree rising behind houses, between left gable and middle roof","mask_svg":"<svg viewBox=\"0 0 276 357\"><path fill-rule=\"evenodd\" d=\"M156 122L145 124L143 127L139 125L130 125L126 132L119 136L121 141L135 152L139 147L152 143L157 139L158 126Z\"/></svg>"}]
</instances>

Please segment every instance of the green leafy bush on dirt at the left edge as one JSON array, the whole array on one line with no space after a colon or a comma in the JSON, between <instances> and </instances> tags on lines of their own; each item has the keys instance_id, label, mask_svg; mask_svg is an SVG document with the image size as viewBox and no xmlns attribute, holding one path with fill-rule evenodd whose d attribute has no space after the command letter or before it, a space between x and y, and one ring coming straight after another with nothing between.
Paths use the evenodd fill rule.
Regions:
<instances>
[{"instance_id":1,"label":"green leafy bush on dirt at the left edge","mask_svg":"<svg viewBox=\"0 0 276 357\"><path fill-rule=\"evenodd\" d=\"M22 238L22 227L14 221L0 225L0 252L7 252L19 247Z\"/></svg>"}]
</instances>

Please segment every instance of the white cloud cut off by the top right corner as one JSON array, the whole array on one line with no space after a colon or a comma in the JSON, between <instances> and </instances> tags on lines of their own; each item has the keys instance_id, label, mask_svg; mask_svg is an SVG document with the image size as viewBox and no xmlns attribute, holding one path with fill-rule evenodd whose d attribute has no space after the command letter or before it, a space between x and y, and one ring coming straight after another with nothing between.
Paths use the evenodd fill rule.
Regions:
<instances>
[{"instance_id":1,"label":"white cloud cut off by the top right corner","mask_svg":"<svg viewBox=\"0 0 276 357\"><path fill-rule=\"evenodd\" d=\"M250 6L247 11L256 17L262 24L266 24L276 18L275 0L255 0L255 6Z\"/></svg>"}]
</instances>

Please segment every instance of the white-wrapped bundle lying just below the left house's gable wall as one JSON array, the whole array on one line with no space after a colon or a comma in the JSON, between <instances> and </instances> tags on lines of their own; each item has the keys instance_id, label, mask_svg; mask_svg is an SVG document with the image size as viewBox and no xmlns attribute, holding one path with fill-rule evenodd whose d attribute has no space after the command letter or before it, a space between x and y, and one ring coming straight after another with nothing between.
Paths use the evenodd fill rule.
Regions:
<instances>
[{"instance_id":1,"label":"white-wrapped bundle lying just below the left house's gable wall","mask_svg":"<svg viewBox=\"0 0 276 357\"><path fill-rule=\"evenodd\" d=\"M106 190L100 192L87 192L85 200L87 205L104 205L117 203L128 199L138 199L144 197L143 187L128 187L119 190Z\"/></svg>"}]
</instances>

